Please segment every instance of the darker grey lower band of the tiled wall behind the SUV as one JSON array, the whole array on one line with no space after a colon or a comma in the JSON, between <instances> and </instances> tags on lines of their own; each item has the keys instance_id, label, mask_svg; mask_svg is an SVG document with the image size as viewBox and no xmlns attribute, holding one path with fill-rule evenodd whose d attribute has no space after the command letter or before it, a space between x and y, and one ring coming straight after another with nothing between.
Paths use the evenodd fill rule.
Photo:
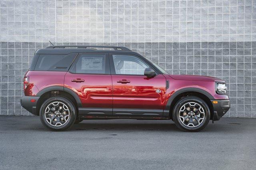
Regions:
<instances>
[{"instance_id":1,"label":"darker grey lower band of the tiled wall behind the SUV","mask_svg":"<svg viewBox=\"0 0 256 170\"><path fill-rule=\"evenodd\" d=\"M66 43L65 45L76 45ZM77 45L88 45L78 43ZM95 45L91 43L90 45ZM256 117L256 42L111 43L146 55L171 74L226 80L232 107L227 117ZM22 77L38 48L48 43L1 43L1 115L28 115L20 106Z\"/></svg>"}]
</instances>

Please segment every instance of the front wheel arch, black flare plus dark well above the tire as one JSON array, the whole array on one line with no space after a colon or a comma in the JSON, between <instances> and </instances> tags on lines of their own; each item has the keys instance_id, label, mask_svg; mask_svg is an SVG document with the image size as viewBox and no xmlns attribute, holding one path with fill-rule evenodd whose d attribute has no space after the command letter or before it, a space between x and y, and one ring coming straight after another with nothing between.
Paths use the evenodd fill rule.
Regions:
<instances>
[{"instance_id":1,"label":"front wheel arch, black flare plus dark well above the tire","mask_svg":"<svg viewBox=\"0 0 256 170\"><path fill-rule=\"evenodd\" d=\"M176 91L174 94L172 94L172 96L168 99L168 102L166 104L166 110L169 111L170 119L172 119L172 111L174 109L175 104L181 98L186 96L195 96L204 100L210 109L210 119L212 119L214 111L211 100L214 99L214 97L209 92L206 92L205 90L202 90L200 88L182 88Z\"/></svg>"}]
</instances>

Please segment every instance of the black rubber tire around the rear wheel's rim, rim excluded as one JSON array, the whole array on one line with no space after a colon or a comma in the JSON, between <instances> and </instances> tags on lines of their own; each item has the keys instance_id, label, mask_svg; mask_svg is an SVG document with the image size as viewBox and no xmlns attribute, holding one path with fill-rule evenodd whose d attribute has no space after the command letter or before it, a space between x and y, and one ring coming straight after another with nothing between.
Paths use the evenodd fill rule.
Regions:
<instances>
[{"instance_id":1,"label":"black rubber tire around the rear wheel's rim, rim excluded","mask_svg":"<svg viewBox=\"0 0 256 170\"><path fill-rule=\"evenodd\" d=\"M68 122L62 126L52 126L48 123L48 121L46 121L46 119L44 117L45 108L48 106L48 104L50 104L52 102L62 102L64 104L66 104L68 106L68 108L70 109L70 117L68 119ZM46 101L44 101L43 104L41 105L40 120L44 126L51 129L52 131L64 131L64 130L70 128L74 124L74 121L76 120L76 109L74 107L74 104L67 98L60 97L60 96L54 96L54 97L51 97L51 98L47 99Z\"/></svg>"}]
</instances>

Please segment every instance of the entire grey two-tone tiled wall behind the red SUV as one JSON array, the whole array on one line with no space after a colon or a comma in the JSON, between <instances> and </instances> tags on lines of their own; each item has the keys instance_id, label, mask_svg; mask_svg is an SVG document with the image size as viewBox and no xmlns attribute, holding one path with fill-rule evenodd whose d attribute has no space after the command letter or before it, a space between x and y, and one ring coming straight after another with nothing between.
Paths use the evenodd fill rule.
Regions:
<instances>
[{"instance_id":1,"label":"entire grey two-tone tiled wall behind the red SUV","mask_svg":"<svg viewBox=\"0 0 256 170\"><path fill-rule=\"evenodd\" d=\"M29 115L22 78L48 40L126 46L172 74L222 78L226 116L256 117L255 0L0 0L0 115Z\"/></svg>"}]
</instances>

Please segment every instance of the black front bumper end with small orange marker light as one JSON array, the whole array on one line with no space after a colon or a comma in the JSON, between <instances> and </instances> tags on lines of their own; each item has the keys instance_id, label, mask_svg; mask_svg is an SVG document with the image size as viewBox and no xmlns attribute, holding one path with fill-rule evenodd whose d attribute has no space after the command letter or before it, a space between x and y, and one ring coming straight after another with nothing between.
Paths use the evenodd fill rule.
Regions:
<instances>
[{"instance_id":1,"label":"black front bumper end with small orange marker light","mask_svg":"<svg viewBox=\"0 0 256 170\"><path fill-rule=\"evenodd\" d=\"M211 102L214 110L213 120L220 120L220 117L222 117L229 110L230 100L211 100Z\"/></svg>"}]
</instances>

